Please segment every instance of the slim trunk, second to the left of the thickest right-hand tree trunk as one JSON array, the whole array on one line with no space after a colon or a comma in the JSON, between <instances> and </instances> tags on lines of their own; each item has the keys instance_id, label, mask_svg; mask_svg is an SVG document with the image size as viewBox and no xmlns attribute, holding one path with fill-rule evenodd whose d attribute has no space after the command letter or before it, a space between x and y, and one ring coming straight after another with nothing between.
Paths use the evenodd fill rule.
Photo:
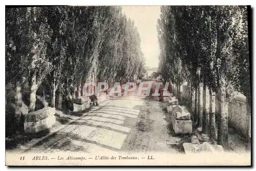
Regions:
<instances>
[{"instance_id":1,"label":"slim trunk, second to the left of the thickest right-hand tree trunk","mask_svg":"<svg viewBox=\"0 0 256 171\"><path fill-rule=\"evenodd\" d=\"M203 133L209 132L209 90L204 84L203 90Z\"/></svg>"}]
</instances>

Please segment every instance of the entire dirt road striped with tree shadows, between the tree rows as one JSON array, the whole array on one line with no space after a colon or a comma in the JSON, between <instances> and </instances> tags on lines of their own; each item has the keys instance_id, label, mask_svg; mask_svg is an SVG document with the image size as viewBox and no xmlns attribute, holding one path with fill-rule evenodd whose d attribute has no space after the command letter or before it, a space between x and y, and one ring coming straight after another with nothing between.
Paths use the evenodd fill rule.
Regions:
<instances>
[{"instance_id":1,"label":"entire dirt road striped with tree shadows, between the tree rows","mask_svg":"<svg viewBox=\"0 0 256 171\"><path fill-rule=\"evenodd\" d=\"M33 152L168 152L178 150L179 137L172 135L163 103L134 93L94 106L93 112L34 145Z\"/></svg>"}]
</instances>

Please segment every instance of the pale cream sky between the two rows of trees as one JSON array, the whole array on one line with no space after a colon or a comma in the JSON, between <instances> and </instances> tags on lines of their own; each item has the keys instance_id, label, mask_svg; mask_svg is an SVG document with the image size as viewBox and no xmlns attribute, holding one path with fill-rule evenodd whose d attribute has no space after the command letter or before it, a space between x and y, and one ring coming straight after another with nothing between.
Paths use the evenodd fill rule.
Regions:
<instances>
[{"instance_id":1,"label":"pale cream sky between the two rows of trees","mask_svg":"<svg viewBox=\"0 0 256 171\"><path fill-rule=\"evenodd\" d=\"M134 20L141 39L141 50L148 67L158 67L159 44L157 19L160 6L122 6L125 15Z\"/></svg>"}]
</instances>

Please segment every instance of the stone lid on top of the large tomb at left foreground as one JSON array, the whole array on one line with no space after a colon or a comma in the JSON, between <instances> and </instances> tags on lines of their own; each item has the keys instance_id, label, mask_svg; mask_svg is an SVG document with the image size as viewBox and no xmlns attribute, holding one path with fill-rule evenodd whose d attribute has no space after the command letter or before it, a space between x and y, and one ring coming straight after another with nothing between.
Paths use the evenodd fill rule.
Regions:
<instances>
[{"instance_id":1,"label":"stone lid on top of the large tomb at left foreground","mask_svg":"<svg viewBox=\"0 0 256 171\"><path fill-rule=\"evenodd\" d=\"M55 108L46 107L25 115L25 122L36 122L55 114Z\"/></svg>"}]
</instances>

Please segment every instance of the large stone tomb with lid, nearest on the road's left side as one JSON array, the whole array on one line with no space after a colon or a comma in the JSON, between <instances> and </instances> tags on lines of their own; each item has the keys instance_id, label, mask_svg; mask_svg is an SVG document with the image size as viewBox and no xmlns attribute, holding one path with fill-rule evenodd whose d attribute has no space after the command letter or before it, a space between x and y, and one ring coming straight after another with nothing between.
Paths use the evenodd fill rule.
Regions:
<instances>
[{"instance_id":1,"label":"large stone tomb with lid, nearest on the road's left side","mask_svg":"<svg viewBox=\"0 0 256 171\"><path fill-rule=\"evenodd\" d=\"M41 110L28 113L25 115L25 133L35 134L49 130L56 122L54 114L55 108L51 107L46 107Z\"/></svg>"}]
</instances>

